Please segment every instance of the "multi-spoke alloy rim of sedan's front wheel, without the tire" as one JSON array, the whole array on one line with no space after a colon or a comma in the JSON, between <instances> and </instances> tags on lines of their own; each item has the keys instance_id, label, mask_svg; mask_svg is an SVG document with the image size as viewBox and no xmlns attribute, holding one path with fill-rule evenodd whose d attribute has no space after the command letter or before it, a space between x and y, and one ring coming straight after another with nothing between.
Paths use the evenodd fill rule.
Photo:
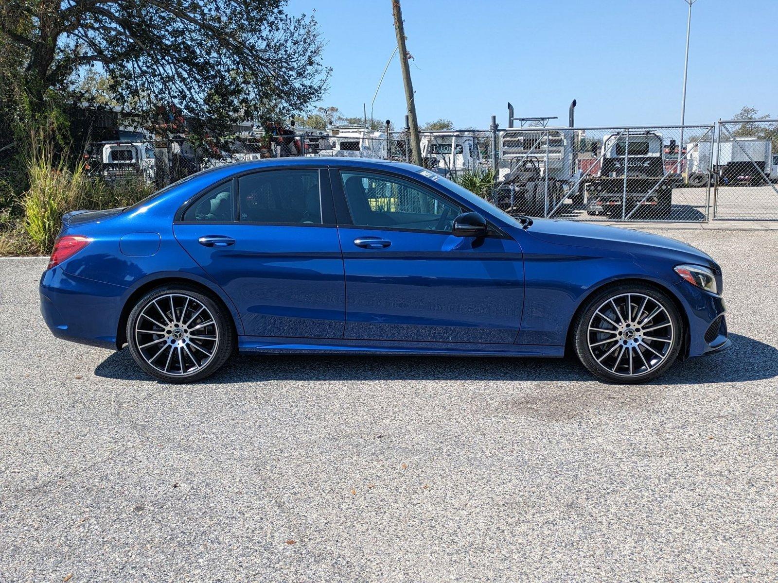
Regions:
<instances>
[{"instance_id":1,"label":"multi-spoke alloy rim of sedan's front wheel, without the tire","mask_svg":"<svg viewBox=\"0 0 778 583\"><path fill-rule=\"evenodd\" d=\"M587 344L594 361L614 375L654 371L671 354L675 328L668 309L649 295L614 295L594 311Z\"/></svg>"}]
</instances>

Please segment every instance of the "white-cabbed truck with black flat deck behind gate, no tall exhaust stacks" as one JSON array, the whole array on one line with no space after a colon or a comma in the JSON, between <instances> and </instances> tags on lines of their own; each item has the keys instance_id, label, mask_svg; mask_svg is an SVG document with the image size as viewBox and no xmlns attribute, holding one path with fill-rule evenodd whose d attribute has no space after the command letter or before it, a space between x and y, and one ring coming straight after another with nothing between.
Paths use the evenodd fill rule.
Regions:
<instances>
[{"instance_id":1,"label":"white-cabbed truck with black flat deck behind gate, no tall exhaust stacks","mask_svg":"<svg viewBox=\"0 0 778 583\"><path fill-rule=\"evenodd\" d=\"M664 164L664 138L656 131L609 134L592 145L600 159L594 175L582 181L588 215L626 218L670 218L673 188L682 186L678 173ZM675 151L674 140L668 148ZM637 210L636 210L637 209Z\"/></svg>"}]
</instances>

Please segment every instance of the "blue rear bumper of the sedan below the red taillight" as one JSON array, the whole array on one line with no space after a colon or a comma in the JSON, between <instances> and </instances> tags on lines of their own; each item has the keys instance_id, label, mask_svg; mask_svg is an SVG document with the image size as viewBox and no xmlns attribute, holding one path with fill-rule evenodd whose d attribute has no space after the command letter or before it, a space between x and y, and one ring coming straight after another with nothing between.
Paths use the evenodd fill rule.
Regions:
<instances>
[{"instance_id":1,"label":"blue rear bumper of the sedan below the red taillight","mask_svg":"<svg viewBox=\"0 0 778 583\"><path fill-rule=\"evenodd\" d=\"M121 286L79 278L54 267L40 278L40 313L58 338L115 350L125 292Z\"/></svg>"}]
</instances>

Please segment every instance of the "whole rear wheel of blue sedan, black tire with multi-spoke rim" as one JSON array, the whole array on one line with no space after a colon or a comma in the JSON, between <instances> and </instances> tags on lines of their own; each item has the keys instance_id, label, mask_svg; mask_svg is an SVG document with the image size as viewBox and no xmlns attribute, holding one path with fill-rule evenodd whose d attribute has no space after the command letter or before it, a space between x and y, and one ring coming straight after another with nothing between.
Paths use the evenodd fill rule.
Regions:
<instances>
[{"instance_id":1,"label":"whole rear wheel of blue sedan, black tire with multi-spoke rim","mask_svg":"<svg viewBox=\"0 0 778 583\"><path fill-rule=\"evenodd\" d=\"M165 285L143 295L130 312L126 333L138 366L171 383L212 375L236 342L229 312L211 295L187 285Z\"/></svg>"}]
</instances>

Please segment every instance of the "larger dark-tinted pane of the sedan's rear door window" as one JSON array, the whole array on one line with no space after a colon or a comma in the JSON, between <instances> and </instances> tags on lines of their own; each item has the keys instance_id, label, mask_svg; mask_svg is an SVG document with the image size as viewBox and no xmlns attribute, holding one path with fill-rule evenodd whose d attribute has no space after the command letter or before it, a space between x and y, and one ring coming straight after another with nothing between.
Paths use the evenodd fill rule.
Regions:
<instances>
[{"instance_id":1,"label":"larger dark-tinted pane of the sedan's rear door window","mask_svg":"<svg viewBox=\"0 0 778 583\"><path fill-rule=\"evenodd\" d=\"M240 176L240 220L321 225L317 169L269 170Z\"/></svg>"}]
</instances>

